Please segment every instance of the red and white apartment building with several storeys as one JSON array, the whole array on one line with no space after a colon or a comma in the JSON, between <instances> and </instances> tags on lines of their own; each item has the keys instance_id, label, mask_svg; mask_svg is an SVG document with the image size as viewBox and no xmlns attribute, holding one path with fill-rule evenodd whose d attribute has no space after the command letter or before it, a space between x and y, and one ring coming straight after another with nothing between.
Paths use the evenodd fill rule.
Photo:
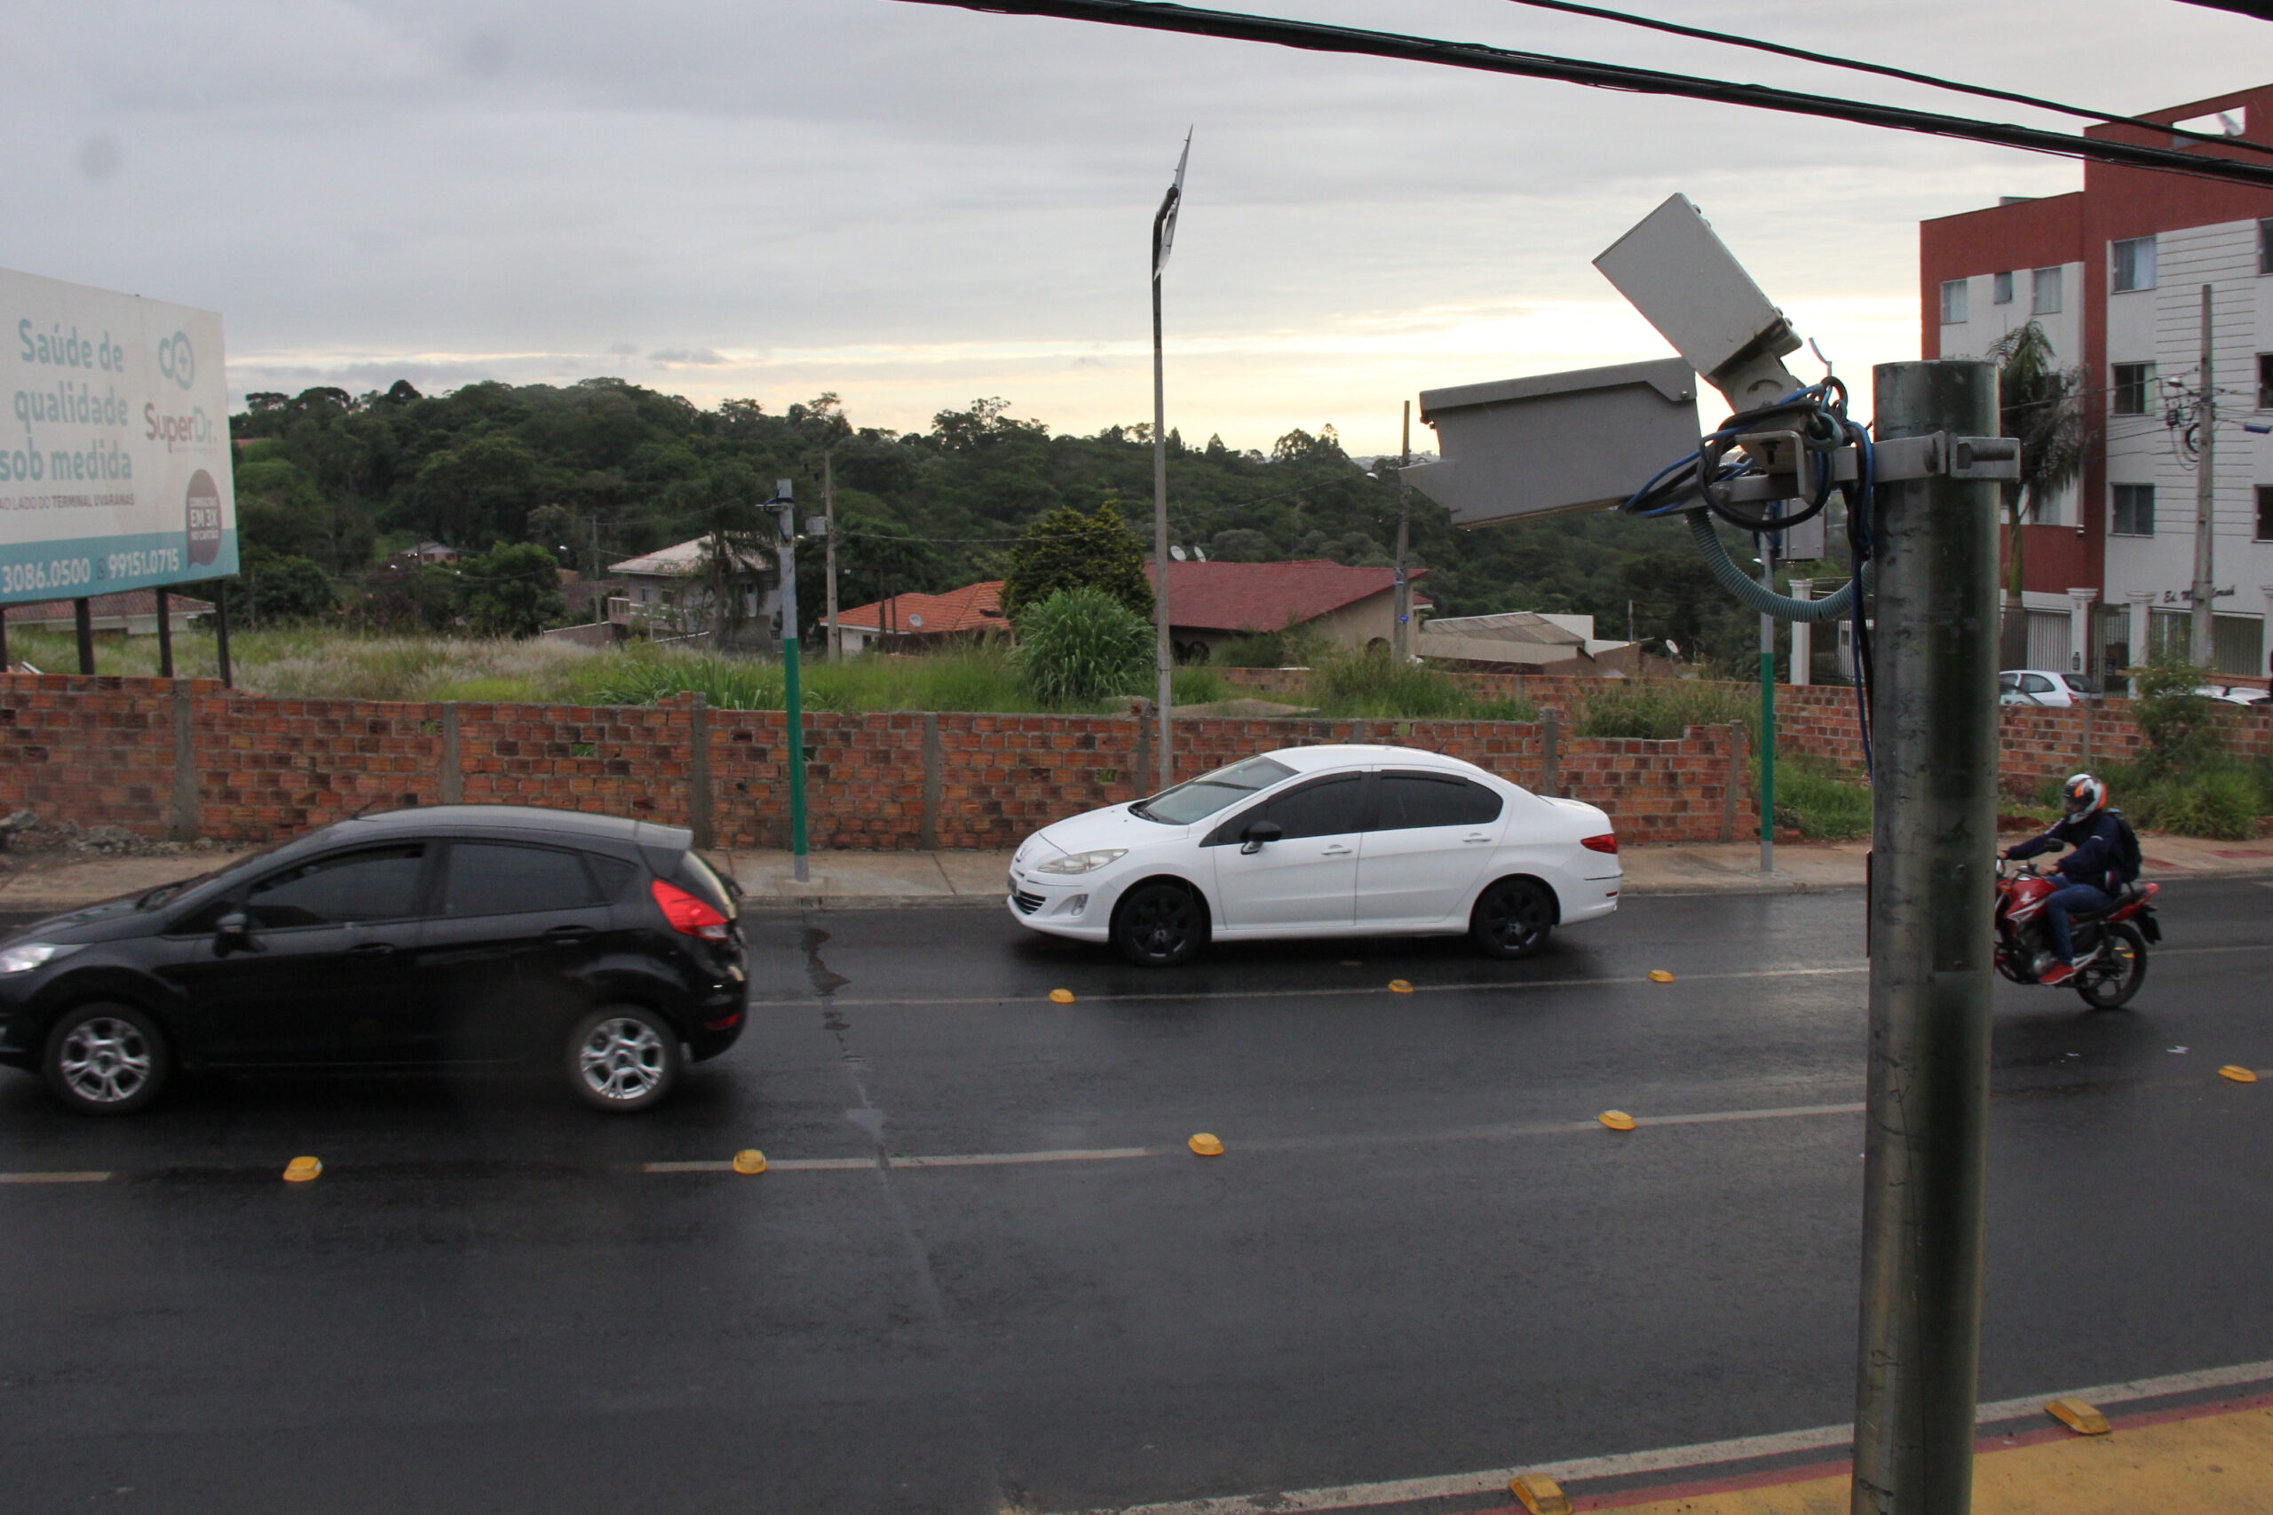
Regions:
<instances>
[{"instance_id":1,"label":"red and white apartment building with several storeys","mask_svg":"<svg viewBox=\"0 0 2273 1515\"><path fill-rule=\"evenodd\" d=\"M2273 84L2148 111L2273 145ZM2187 145L2143 127L2089 136ZM2273 618L2273 191L2084 166L2084 189L1918 225L1923 352L1984 357L2034 320L2089 375L2089 461L2021 527L2028 666L2105 675L2189 647L2200 477L2189 400L2212 302L2216 668L2266 675Z\"/></svg>"}]
</instances>

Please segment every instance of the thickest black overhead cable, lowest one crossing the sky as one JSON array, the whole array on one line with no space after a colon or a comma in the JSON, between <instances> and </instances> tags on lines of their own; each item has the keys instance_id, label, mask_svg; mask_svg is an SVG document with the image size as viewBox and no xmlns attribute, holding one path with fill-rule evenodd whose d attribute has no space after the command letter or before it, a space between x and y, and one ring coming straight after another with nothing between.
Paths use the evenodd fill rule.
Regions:
<instances>
[{"instance_id":1,"label":"thickest black overhead cable, lowest one crossing the sky","mask_svg":"<svg viewBox=\"0 0 2273 1515\"><path fill-rule=\"evenodd\" d=\"M2182 173L2200 179L2228 184L2250 184L2273 189L2273 166L2239 164L2234 159L2193 157L2168 148L2146 148L2139 143L2107 141L2098 136L2071 136L2066 132L2043 132L1998 120L1975 120L1971 116L1941 116L1937 111L1912 111L1893 104L1871 104L1864 100L1839 100L1837 95L1814 95L1793 89L1771 89L1766 84L1730 84L1687 73L1664 73L1657 68L1627 68L1625 64L1596 64L1587 59L1555 57L1548 52L1518 52L1514 48L1487 48L1482 43L1452 43L1405 32L1366 32L1357 27L1327 27L1307 20L1280 20L1275 16L1246 16L1239 11L1205 11L1189 5L1166 5L1162 0L902 0L905 5L946 5L966 11L998 11L1007 16L1059 16L1064 20L1098 20L1118 27L1143 27L1152 32L1187 32L1193 36L1227 36L1237 41L1275 43L1302 52L1343 52L1362 57L1389 57L1409 64L1441 64L1446 68L1473 68L1477 73L1502 73L1530 79L1557 79L1584 84L1589 89L1616 89L1637 95L1680 95L1689 100L1712 100L1718 104L1743 104L1791 116L1818 116L1825 120L1848 120L1866 127L1889 127L1896 132L1918 132L1925 136L1950 136L1978 141L1996 148L2018 148L2023 152L2046 152L2053 157L2118 164L2125 168L2153 168Z\"/></svg>"}]
</instances>

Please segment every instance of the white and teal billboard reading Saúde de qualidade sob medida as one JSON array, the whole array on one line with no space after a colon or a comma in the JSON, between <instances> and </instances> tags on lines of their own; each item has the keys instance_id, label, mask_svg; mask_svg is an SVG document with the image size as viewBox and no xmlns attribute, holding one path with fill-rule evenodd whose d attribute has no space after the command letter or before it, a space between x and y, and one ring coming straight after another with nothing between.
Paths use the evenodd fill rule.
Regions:
<instances>
[{"instance_id":1,"label":"white and teal billboard reading Sa\u00fade de qualidade sob medida","mask_svg":"<svg viewBox=\"0 0 2273 1515\"><path fill-rule=\"evenodd\" d=\"M220 316L0 270L0 604L236 572Z\"/></svg>"}]
</instances>

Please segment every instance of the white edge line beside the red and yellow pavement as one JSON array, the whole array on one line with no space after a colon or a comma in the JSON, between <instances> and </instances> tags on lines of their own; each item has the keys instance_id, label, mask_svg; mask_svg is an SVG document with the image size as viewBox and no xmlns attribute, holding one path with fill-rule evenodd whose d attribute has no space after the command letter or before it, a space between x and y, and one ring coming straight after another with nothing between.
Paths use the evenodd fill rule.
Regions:
<instances>
[{"instance_id":1,"label":"white edge line beside the red and yellow pavement","mask_svg":"<svg viewBox=\"0 0 2273 1515\"><path fill-rule=\"evenodd\" d=\"M2203 1372L2178 1372L2162 1379L2130 1379L2125 1383L2100 1383L2098 1388L2071 1388L2050 1395L2028 1395L2025 1399L1998 1399L1980 1406L1978 1422L2012 1420L2016 1415L2039 1415L2048 1399L2084 1399L2096 1406L2125 1404L2132 1399L2157 1399L2162 1395L2187 1395L2205 1388L2232 1388L2237 1383L2259 1383L2273 1379L2273 1363L2239 1363L2234 1367L2209 1367ZM1350 1510L1377 1504L1412 1504L1421 1499L1448 1499L1457 1495L1505 1495L1507 1481L1516 1474L1546 1474L1557 1483L1580 1479L1616 1479L1641 1472L1668 1472L1677 1467L1707 1467L1714 1463L1741 1463L1748 1458L1782 1456L1789 1451L1846 1451L1855 1445L1855 1426L1816 1426L1812 1431L1780 1431L1773 1436L1741 1436L1725 1442L1696 1442L1691 1447L1659 1447L1655 1451L1625 1451L1600 1458L1568 1458L1564 1463L1525 1463L1521 1467L1496 1467L1491 1472L1450 1474L1443 1479L1393 1479L1387 1483L1343 1483L1339 1488L1305 1488L1284 1495L1234 1495L1227 1499L1177 1499L1171 1504L1132 1504L1116 1510L1082 1510L1082 1515L1291 1515L1298 1510Z\"/></svg>"}]
</instances>

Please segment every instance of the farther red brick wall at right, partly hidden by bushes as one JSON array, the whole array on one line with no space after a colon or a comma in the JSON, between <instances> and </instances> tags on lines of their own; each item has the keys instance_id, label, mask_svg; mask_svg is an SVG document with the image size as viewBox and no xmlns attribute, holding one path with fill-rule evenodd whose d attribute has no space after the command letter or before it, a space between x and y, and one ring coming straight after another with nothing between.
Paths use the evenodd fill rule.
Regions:
<instances>
[{"instance_id":1,"label":"farther red brick wall at right, partly hidden by bushes","mask_svg":"<svg viewBox=\"0 0 2273 1515\"><path fill-rule=\"evenodd\" d=\"M1284 668L1225 668L1225 677L1271 695L1300 693L1302 672ZM1602 679L1562 675L1455 672L1480 700L1525 697L1541 711L1557 711L1575 725L1573 711L1589 693L1605 688ZM1757 684L1718 684L1757 709ZM2130 700L2105 700L2096 706L2041 709L2007 704L2003 711L1998 777L2007 788L2025 790L2046 777L2068 775L2096 763L2130 763L2146 750L2139 722L2130 718ZM2232 709L2232 750L2246 759L2273 759L2273 713ZM1855 690L1830 684L1775 686L1775 750L1821 756L1841 768L1862 768L1862 729L1855 720Z\"/></svg>"}]
</instances>

